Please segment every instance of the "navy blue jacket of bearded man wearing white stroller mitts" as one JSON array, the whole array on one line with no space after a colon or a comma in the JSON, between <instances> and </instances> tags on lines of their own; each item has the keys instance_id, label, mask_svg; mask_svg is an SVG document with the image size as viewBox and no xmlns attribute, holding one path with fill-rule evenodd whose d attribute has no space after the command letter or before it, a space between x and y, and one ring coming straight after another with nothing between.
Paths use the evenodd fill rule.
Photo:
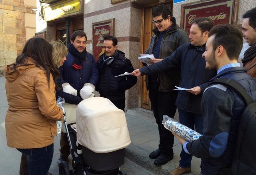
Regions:
<instances>
[{"instance_id":1,"label":"navy blue jacket of bearded man wearing white stroller mitts","mask_svg":"<svg viewBox=\"0 0 256 175\"><path fill-rule=\"evenodd\" d=\"M72 67L75 57L70 52L66 56L67 61L60 67L62 76L61 84L69 83L74 89L80 91L85 83L94 86L98 83L99 72L92 54L86 54L86 60L82 61L82 68L77 70ZM79 93L79 92L77 92Z\"/></svg>"}]
</instances>

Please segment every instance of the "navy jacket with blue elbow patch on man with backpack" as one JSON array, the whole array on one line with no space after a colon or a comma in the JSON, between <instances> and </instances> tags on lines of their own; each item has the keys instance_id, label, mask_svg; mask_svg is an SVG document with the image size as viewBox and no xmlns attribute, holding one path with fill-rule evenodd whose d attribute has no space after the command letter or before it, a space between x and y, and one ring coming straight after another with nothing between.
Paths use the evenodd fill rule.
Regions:
<instances>
[{"instance_id":1,"label":"navy jacket with blue elbow patch on man with backpack","mask_svg":"<svg viewBox=\"0 0 256 175\"><path fill-rule=\"evenodd\" d=\"M210 81L217 78L235 80L256 102L256 80L246 74L246 69L227 68ZM185 145L189 153L202 158L201 169L204 174L224 174L224 164L231 167L239 122L245 106L242 98L224 85L214 84L205 89L202 96L203 136Z\"/></svg>"}]
</instances>

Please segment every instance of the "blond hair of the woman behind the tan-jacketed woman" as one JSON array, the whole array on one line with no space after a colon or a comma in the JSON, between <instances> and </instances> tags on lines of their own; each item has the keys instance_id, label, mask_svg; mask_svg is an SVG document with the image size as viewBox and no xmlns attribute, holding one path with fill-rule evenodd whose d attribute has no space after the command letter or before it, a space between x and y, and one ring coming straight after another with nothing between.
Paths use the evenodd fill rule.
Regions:
<instances>
[{"instance_id":1,"label":"blond hair of the woman behind the tan-jacketed woman","mask_svg":"<svg viewBox=\"0 0 256 175\"><path fill-rule=\"evenodd\" d=\"M53 47L52 60L57 67L61 66L62 59L68 54L68 48L59 41L51 41Z\"/></svg>"}]
</instances>

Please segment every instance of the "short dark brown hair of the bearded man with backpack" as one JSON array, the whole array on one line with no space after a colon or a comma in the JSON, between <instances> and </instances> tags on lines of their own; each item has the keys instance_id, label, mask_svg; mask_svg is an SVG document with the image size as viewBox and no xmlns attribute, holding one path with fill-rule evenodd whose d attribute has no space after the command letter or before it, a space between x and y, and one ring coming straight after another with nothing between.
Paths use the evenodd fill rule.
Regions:
<instances>
[{"instance_id":1,"label":"short dark brown hair of the bearded man with backpack","mask_svg":"<svg viewBox=\"0 0 256 175\"><path fill-rule=\"evenodd\" d=\"M229 59L238 59L243 47L243 35L238 27L231 24L216 25L209 32L209 37L215 35L212 45L213 51L218 46L223 46Z\"/></svg>"}]
</instances>

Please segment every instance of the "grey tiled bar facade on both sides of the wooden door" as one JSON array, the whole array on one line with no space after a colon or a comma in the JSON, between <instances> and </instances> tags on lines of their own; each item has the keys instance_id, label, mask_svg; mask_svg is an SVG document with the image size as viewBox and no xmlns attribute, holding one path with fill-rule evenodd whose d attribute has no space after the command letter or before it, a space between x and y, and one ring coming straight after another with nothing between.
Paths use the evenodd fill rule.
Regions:
<instances>
[{"instance_id":1,"label":"grey tiled bar facade on both sides of the wooden door","mask_svg":"<svg viewBox=\"0 0 256 175\"><path fill-rule=\"evenodd\" d=\"M38 0L37 0L38 1ZM181 5L198 0L186 0L185 2L173 5L173 14L176 23L180 25ZM150 5L156 5L158 0L148 0ZM170 2L165 0L164 2ZM37 7L39 7L39 1ZM141 5L140 5L141 4ZM141 47L141 17L143 13L144 0L125 0L116 4L111 4L110 0L83 0L83 22L84 31L87 34L87 51L92 53L92 23L114 20L114 36L118 39L119 50L125 52L126 57L132 62L133 67L139 67L138 53ZM147 5L147 4L146 4ZM238 10L238 26L242 25L242 14L255 5L255 0L240 0ZM64 19L64 18L63 18ZM44 22L38 20L37 13L37 36L41 35L46 40L54 39L54 21ZM44 28L42 27L44 26ZM139 106L139 81L131 89L126 91L126 108Z\"/></svg>"}]
</instances>

